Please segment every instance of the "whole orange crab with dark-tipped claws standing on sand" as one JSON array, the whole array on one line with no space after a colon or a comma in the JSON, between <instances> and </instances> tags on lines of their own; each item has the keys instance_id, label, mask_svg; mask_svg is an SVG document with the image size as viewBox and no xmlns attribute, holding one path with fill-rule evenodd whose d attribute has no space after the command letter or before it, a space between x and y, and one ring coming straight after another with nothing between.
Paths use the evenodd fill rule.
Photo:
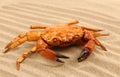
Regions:
<instances>
[{"instance_id":1,"label":"whole orange crab with dark-tipped claws standing on sand","mask_svg":"<svg viewBox=\"0 0 120 77\"><path fill-rule=\"evenodd\" d=\"M108 36L109 34L100 33L99 31L102 31L100 29L75 25L77 23L79 23L78 20L53 26L32 25L30 27L31 29L42 29L42 31L29 31L18 35L8 43L4 53L16 48L26 41L37 41L33 48L25 51L22 56L17 59L16 67L19 70L23 60L26 59L28 55L35 52L47 59L64 63L60 58L67 59L69 57L52 50L54 47L84 45L82 52L77 59L78 62L85 60L94 51L95 45L100 46L106 51L106 48L96 39L96 37Z\"/></svg>"}]
</instances>

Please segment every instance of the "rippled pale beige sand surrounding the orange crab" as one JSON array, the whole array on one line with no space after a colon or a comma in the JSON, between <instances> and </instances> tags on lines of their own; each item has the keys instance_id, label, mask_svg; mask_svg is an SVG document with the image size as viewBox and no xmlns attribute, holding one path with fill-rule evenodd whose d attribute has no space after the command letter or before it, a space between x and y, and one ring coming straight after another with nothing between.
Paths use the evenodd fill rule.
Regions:
<instances>
[{"instance_id":1,"label":"rippled pale beige sand surrounding the orange crab","mask_svg":"<svg viewBox=\"0 0 120 77\"><path fill-rule=\"evenodd\" d=\"M96 46L86 61L78 63L82 46L57 50L70 57L64 65L33 54L19 71L16 59L35 43L2 53L13 37L29 31L32 24L59 24L74 19L80 21L79 25L109 33L109 37L99 38L108 51ZM120 77L120 0L1 0L0 36L0 77Z\"/></svg>"}]
</instances>

